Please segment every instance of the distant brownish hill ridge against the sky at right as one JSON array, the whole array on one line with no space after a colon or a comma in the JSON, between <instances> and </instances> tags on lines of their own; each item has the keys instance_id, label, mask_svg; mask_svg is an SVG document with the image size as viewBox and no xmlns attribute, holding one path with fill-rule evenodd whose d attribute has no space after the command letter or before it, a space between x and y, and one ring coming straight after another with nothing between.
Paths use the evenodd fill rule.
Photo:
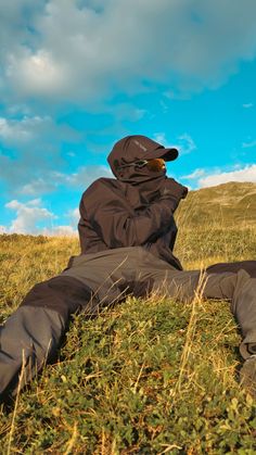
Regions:
<instances>
[{"instance_id":1,"label":"distant brownish hill ridge against the sky at right","mask_svg":"<svg viewBox=\"0 0 256 455\"><path fill-rule=\"evenodd\" d=\"M182 226L256 223L256 184L235 182L190 191L177 211Z\"/></svg>"}]
</instances>

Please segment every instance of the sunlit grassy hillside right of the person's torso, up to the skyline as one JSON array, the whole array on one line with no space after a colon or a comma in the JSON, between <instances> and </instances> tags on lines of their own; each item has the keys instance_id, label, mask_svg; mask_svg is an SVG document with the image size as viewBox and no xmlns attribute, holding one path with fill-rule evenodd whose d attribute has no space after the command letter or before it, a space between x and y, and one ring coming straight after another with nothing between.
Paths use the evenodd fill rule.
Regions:
<instances>
[{"instance_id":1,"label":"sunlit grassy hillside right of the person's torso, up to the skyline","mask_svg":"<svg viewBox=\"0 0 256 455\"><path fill-rule=\"evenodd\" d=\"M185 268L256 257L256 184L190 191L176 213L176 254Z\"/></svg>"}]
</instances>

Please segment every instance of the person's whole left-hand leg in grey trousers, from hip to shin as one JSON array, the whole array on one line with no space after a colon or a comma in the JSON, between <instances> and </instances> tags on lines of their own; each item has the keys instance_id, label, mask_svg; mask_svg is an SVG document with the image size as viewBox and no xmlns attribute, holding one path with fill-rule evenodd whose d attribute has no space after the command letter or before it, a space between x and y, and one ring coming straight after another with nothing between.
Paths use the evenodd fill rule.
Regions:
<instances>
[{"instance_id":1,"label":"person's whole left-hand leg in grey trousers, from hip to shin","mask_svg":"<svg viewBox=\"0 0 256 455\"><path fill-rule=\"evenodd\" d=\"M0 399L15 395L18 383L29 382L55 356L72 314L82 311L94 317L103 306L131 293L136 251L116 249L74 257L60 276L28 292L0 327Z\"/></svg>"}]
</instances>

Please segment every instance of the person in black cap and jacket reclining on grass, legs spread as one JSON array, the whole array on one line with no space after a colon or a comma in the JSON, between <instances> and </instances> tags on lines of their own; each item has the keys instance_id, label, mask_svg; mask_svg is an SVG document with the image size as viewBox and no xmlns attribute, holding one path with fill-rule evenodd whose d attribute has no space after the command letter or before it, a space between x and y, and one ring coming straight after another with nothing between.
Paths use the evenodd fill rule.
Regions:
<instances>
[{"instance_id":1,"label":"person in black cap and jacket reclining on grass, legs spread","mask_svg":"<svg viewBox=\"0 0 256 455\"><path fill-rule=\"evenodd\" d=\"M183 270L172 249L174 218L188 189L166 176L174 148L144 136L115 143L115 178L95 180L82 194L81 254L59 276L36 285L0 329L0 396L15 395L57 353L72 315L94 317L130 294L165 294L181 302L195 292L227 299L242 331L241 383L256 396L256 261Z\"/></svg>"}]
</instances>

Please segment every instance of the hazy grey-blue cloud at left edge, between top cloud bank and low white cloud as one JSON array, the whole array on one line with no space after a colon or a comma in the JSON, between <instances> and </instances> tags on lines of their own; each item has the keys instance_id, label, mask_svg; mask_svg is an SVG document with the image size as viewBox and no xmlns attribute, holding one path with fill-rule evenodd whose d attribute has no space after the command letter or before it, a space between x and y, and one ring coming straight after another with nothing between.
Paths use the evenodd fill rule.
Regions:
<instances>
[{"instance_id":1,"label":"hazy grey-blue cloud at left edge, between top cloud bank and low white cloud","mask_svg":"<svg viewBox=\"0 0 256 455\"><path fill-rule=\"evenodd\" d=\"M62 143L76 147L81 135L50 116L0 117L2 181L12 195L35 195L55 189L52 168L63 168Z\"/></svg>"}]
</instances>

